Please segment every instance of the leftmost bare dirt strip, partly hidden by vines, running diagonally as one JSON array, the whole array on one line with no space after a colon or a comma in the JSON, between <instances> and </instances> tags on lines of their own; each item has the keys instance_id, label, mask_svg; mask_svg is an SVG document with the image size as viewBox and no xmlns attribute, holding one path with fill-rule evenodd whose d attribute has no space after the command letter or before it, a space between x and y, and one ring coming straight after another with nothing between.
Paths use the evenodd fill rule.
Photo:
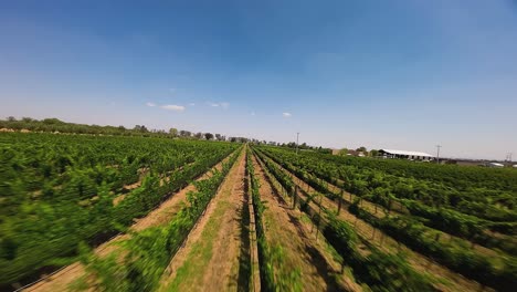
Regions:
<instances>
[{"instance_id":1,"label":"leftmost bare dirt strip, partly hidden by vines, running diagonally","mask_svg":"<svg viewBox=\"0 0 517 292\"><path fill-rule=\"evenodd\" d=\"M230 156L225 157L222 161L217 164L211 170L207 171L205 174L201 175L196 180L207 179L212 175L213 169L220 170L222 168L223 161L226 161ZM187 201L187 194L191 190L196 190L193 184L189 184L186 188L181 189L180 191L171 195L166 201L163 201L157 209L149 212L146 217L140 219L135 219L135 223L130 227L131 230L141 231L144 229L161 226L169 222L173 216L181 209L181 206L184 201ZM119 234L106 241L105 243L98 246L95 249L95 253L97 255L107 255L108 253L113 252L116 249L114 243L127 239L128 234ZM61 292L61 291L68 291L68 286L76 280L80 279L85 274L84 265L80 262L72 263L65 267L60 272L49 277L41 282L31 285L23 291L31 291L31 292Z\"/></svg>"}]
</instances>

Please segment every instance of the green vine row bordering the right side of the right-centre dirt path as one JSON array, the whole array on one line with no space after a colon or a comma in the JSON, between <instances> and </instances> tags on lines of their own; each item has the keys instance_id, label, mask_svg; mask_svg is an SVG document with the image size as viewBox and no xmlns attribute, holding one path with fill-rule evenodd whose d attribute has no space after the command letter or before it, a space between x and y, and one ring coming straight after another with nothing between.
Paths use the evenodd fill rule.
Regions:
<instances>
[{"instance_id":1,"label":"green vine row bordering the right side of the right-centre dirt path","mask_svg":"<svg viewBox=\"0 0 517 292\"><path fill-rule=\"evenodd\" d=\"M260 161L265 166L272 180L279 182L284 194L291 195L299 204L296 206L308 215L328 243L344 259L359 283L372 291L434 291L433 282L414 271L400 254L387 254L356 233L347 222L336 217L336 210L318 204L318 194L307 194L295 187L292 177L282 171L262 152L255 149Z\"/></svg>"}]
</instances>

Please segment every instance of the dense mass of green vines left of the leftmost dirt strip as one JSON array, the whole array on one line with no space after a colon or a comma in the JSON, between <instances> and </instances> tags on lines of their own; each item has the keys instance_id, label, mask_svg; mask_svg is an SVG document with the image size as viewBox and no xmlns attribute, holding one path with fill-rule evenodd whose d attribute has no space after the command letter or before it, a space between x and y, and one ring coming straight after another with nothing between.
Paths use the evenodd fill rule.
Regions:
<instances>
[{"instance_id":1,"label":"dense mass of green vines left of the leftmost dirt strip","mask_svg":"<svg viewBox=\"0 0 517 292\"><path fill-rule=\"evenodd\" d=\"M0 284L76 254L81 241L103 242L234 149L226 143L1 133Z\"/></svg>"}]
</instances>

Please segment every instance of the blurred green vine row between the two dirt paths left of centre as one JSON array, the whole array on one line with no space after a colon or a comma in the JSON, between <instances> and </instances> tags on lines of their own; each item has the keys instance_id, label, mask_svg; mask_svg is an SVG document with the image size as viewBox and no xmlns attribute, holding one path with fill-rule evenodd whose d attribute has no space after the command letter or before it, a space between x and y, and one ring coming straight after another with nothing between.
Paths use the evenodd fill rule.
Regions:
<instances>
[{"instance_id":1,"label":"blurred green vine row between the two dirt paths left of centre","mask_svg":"<svg viewBox=\"0 0 517 292\"><path fill-rule=\"evenodd\" d=\"M197 190L188 195L190 204L184 205L168 225L131 232L131 237L120 243L120 249L108 258L83 257L88 271L101 277L97 289L114 291L114 285L119 283L116 291L156 291L171 257L215 196L239 155L240 152L234 153L221 171L196 182Z\"/></svg>"}]
</instances>

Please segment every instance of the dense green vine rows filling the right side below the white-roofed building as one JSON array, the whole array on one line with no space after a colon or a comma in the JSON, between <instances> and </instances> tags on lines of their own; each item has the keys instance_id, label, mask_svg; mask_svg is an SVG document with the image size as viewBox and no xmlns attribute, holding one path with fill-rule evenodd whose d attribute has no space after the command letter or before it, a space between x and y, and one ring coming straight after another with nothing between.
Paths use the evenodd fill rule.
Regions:
<instances>
[{"instance_id":1,"label":"dense green vine rows filling the right side below the white-roofed building","mask_svg":"<svg viewBox=\"0 0 517 292\"><path fill-rule=\"evenodd\" d=\"M356 202L349 208L351 212L452 270L500 290L517 284L515 257L504 254L494 261L472 250L468 241L439 242L433 236L437 229L515 254L515 238L510 234L515 234L517 225L517 176L511 169L357 159L315 153L296 155L274 147L257 147L256 152L323 194L329 194L326 184L315 184L321 178L357 195ZM411 215L379 219L359 207L361 199L387 209L391 209L392 202L402 204ZM333 228L328 238L344 232L336 223ZM508 236L493 237L488 230ZM344 242L346 240L340 248L347 247ZM401 274L407 273L401 271Z\"/></svg>"}]
</instances>

